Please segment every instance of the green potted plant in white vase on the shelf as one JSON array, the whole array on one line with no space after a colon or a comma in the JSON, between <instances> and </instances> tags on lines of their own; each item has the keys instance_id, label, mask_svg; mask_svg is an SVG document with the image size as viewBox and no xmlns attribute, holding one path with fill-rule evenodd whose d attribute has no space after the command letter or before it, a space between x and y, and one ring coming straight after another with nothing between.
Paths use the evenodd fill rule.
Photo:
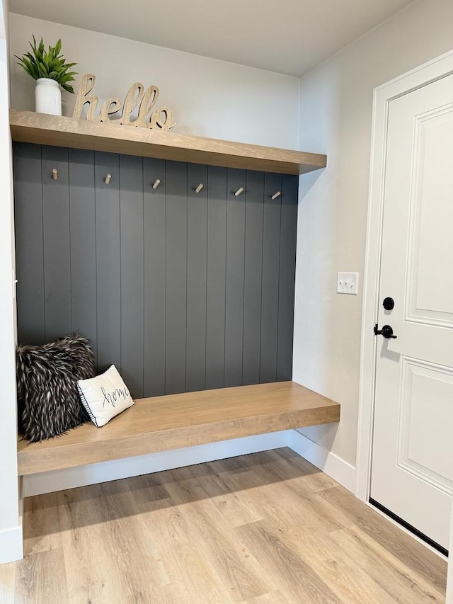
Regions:
<instances>
[{"instance_id":1,"label":"green potted plant in white vase on the shelf","mask_svg":"<svg viewBox=\"0 0 453 604\"><path fill-rule=\"evenodd\" d=\"M69 71L76 63L67 63L63 55L62 40L58 40L55 46L49 46L45 50L44 42L41 38L37 45L33 35L33 43L30 43L32 52L25 52L25 55L18 57L18 64L25 69L28 75L36 80L35 86L35 110L38 113L52 113L53 115L62 115L62 89L74 93L69 82L74 81L77 72Z\"/></svg>"}]
</instances>

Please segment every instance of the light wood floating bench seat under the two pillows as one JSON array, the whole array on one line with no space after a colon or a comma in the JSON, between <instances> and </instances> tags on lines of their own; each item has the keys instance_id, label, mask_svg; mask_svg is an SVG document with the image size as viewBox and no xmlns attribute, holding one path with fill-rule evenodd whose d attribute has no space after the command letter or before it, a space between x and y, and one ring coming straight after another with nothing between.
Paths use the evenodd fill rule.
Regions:
<instances>
[{"instance_id":1,"label":"light wood floating bench seat under the two pillows","mask_svg":"<svg viewBox=\"0 0 453 604\"><path fill-rule=\"evenodd\" d=\"M340 419L340 405L295 382L137 399L103 428L85 423L41 443L18 441L18 474L146 455Z\"/></svg>"}]
</instances>

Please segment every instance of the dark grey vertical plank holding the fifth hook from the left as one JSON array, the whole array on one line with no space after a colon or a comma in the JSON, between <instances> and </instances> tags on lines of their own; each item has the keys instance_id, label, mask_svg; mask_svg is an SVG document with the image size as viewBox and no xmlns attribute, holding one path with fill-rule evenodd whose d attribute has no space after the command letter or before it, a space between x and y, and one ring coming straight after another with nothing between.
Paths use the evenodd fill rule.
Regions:
<instances>
[{"instance_id":1,"label":"dark grey vertical plank holding the fifth hook from the left","mask_svg":"<svg viewBox=\"0 0 453 604\"><path fill-rule=\"evenodd\" d=\"M242 383L246 171L229 169L226 205L225 387Z\"/></svg>"}]
</instances>

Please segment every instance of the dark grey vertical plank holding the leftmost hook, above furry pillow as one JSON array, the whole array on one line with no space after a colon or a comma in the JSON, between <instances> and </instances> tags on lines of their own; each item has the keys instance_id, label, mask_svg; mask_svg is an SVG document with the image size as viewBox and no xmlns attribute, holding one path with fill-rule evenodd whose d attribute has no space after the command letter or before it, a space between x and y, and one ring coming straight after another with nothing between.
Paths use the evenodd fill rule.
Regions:
<instances>
[{"instance_id":1,"label":"dark grey vertical plank holding the leftmost hook, above furry pillow","mask_svg":"<svg viewBox=\"0 0 453 604\"><path fill-rule=\"evenodd\" d=\"M68 149L62 147L42 147L42 224L45 339L52 341L71 333Z\"/></svg>"}]
</instances>

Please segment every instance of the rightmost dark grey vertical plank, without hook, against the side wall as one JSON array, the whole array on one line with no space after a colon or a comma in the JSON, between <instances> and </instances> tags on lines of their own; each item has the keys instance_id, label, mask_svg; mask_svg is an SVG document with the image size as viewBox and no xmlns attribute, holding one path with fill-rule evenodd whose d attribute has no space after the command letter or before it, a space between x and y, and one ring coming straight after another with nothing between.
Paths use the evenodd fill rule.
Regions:
<instances>
[{"instance_id":1,"label":"rightmost dark grey vertical plank, without hook, against the side wall","mask_svg":"<svg viewBox=\"0 0 453 604\"><path fill-rule=\"evenodd\" d=\"M292 380L294 279L296 275L297 176L282 176L277 380Z\"/></svg>"}]
</instances>

